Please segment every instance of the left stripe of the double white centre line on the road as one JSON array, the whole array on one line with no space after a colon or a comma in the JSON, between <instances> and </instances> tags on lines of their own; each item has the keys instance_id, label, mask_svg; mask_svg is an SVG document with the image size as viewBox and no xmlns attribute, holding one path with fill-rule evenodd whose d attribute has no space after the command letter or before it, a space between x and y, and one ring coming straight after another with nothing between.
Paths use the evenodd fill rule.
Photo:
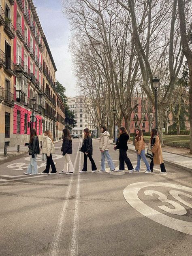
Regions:
<instances>
[{"instance_id":1,"label":"left stripe of the double white centre line on the road","mask_svg":"<svg viewBox=\"0 0 192 256\"><path fill-rule=\"evenodd\" d=\"M79 141L79 146L77 148L77 155L75 158L74 169L76 167L77 158L79 155L80 143L81 143L81 140ZM65 194L65 198L69 198L72 183L73 183L73 175L70 176L70 180L69 180L68 188L67 188L67 191ZM66 199L64 199L64 201L63 201L59 219L58 219L58 223L57 223L57 226L55 229L55 235L53 237L53 241L52 241L51 248L49 251L49 256L57 256L59 254L60 241L61 241L63 226L64 226L64 222L65 222L65 218L66 218L68 202L69 202L69 200L66 200Z\"/></svg>"}]
</instances>

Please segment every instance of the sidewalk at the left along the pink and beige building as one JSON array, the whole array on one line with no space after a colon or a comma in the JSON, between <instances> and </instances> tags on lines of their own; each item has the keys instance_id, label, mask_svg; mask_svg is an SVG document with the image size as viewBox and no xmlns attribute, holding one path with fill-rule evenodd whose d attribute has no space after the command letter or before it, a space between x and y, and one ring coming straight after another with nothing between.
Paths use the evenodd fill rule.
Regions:
<instances>
[{"instance_id":1,"label":"sidewalk at the left along the pink and beige building","mask_svg":"<svg viewBox=\"0 0 192 256\"><path fill-rule=\"evenodd\" d=\"M55 143L60 142L60 141L55 141ZM7 148L7 154L4 156L4 148L0 148L0 163L9 159L13 158L19 155L23 155L28 153L28 146L20 145L20 150L17 152L17 146L15 147L6 147Z\"/></svg>"}]
</instances>

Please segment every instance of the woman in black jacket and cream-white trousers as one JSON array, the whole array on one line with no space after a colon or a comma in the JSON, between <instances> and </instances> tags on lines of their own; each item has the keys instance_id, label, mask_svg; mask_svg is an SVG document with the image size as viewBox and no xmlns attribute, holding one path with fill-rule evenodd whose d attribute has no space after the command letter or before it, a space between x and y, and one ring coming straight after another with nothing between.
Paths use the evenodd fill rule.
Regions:
<instances>
[{"instance_id":1,"label":"woman in black jacket and cream-white trousers","mask_svg":"<svg viewBox=\"0 0 192 256\"><path fill-rule=\"evenodd\" d=\"M59 173L72 174L74 172L73 164L70 160L70 154L72 154L72 139L68 128L63 129L63 143L61 151L64 156L63 170Z\"/></svg>"}]
</instances>

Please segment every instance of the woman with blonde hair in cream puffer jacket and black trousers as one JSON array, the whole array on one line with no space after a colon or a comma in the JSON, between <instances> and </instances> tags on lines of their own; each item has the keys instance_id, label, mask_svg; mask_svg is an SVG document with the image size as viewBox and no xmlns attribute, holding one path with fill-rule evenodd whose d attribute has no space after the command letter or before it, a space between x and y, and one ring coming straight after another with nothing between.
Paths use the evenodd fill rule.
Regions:
<instances>
[{"instance_id":1,"label":"woman with blonde hair in cream puffer jacket and black trousers","mask_svg":"<svg viewBox=\"0 0 192 256\"><path fill-rule=\"evenodd\" d=\"M45 136L43 136L43 143L42 143L42 153L47 155L47 164L45 171L43 171L41 174L56 174L56 168L55 164L52 159L52 154L55 153L55 146L54 146L54 141L53 141L53 136L51 134L50 130L45 131ZM49 173L51 165L51 173Z\"/></svg>"}]
</instances>

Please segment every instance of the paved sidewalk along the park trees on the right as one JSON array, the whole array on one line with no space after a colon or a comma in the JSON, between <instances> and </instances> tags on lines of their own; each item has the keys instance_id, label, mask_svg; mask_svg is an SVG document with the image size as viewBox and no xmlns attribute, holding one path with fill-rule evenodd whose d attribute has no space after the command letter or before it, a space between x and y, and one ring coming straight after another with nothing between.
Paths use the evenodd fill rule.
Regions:
<instances>
[{"instance_id":1,"label":"paved sidewalk along the park trees on the right","mask_svg":"<svg viewBox=\"0 0 192 256\"><path fill-rule=\"evenodd\" d=\"M115 145L113 139L110 139L110 141L111 144ZM145 153L147 152L147 147L147 143L145 143ZM128 142L128 150L135 152L133 141ZM192 172L192 156L189 154L189 149L165 146L162 147L162 154L165 164L172 164L173 166Z\"/></svg>"}]
</instances>

